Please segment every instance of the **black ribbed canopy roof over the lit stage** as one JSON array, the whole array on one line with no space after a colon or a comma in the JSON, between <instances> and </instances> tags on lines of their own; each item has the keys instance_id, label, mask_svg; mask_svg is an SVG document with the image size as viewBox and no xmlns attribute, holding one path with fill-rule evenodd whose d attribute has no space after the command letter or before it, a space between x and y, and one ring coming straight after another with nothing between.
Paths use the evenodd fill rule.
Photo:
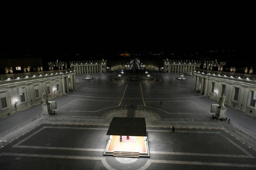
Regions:
<instances>
[{"instance_id":1,"label":"black ribbed canopy roof over the lit stage","mask_svg":"<svg viewBox=\"0 0 256 170\"><path fill-rule=\"evenodd\" d=\"M147 136L145 118L113 117L107 135Z\"/></svg>"}]
</instances>

